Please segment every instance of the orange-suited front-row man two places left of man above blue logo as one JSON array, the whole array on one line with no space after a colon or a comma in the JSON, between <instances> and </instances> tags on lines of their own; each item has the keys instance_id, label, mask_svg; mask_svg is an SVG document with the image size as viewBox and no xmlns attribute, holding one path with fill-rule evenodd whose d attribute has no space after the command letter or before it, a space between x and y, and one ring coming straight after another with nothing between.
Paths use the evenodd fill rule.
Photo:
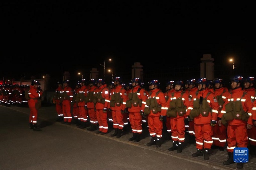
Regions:
<instances>
[{"instance_id":1,"label":"orange-suited front-row man two places left of man above blue logo","mask_svg":"<svg viewBox=\"0 0 256 170\"><path fill-rule=\"evenodd\" d=\"M172 147L169 151L182 152L182 143L185 141L185 118L188 117L191 108L188 94L185 92L182 80L174 81L175 92L171 93L165 104L167 117L171 118Z\"/></svg>"}]
</instances>

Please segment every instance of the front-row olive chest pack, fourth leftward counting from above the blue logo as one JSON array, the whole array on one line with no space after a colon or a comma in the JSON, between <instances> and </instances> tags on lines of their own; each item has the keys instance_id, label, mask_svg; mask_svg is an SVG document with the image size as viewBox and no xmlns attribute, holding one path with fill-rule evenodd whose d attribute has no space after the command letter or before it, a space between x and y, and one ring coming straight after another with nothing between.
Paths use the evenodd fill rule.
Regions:
<instances>
[{"instance_id":1,"label":"front-row olive chest pack, fourth leftward counting from above the blue logo","mask_svg":"<svg viewBox=\"0 0 256 170\"><path fill-rule=\"evenodd\" d=\"M156 92L156 96L159 94L159 92L160 92L160 91ZM152 93L152 92L149 92L148 95L150 96L151 93ZM148 107L145 107L145 108L144 108L144 114L145 114L145 115L149 115L149 114L150 114L150 110L152 110L152 113L153 113L153 114L157 114L158 112L161 111L161 107L162 107L162 106L157 103L156 96L153 97L153 98L150 97L149 99L146 100L146 105L147 105Z\"/></svg>"}]
</instances>

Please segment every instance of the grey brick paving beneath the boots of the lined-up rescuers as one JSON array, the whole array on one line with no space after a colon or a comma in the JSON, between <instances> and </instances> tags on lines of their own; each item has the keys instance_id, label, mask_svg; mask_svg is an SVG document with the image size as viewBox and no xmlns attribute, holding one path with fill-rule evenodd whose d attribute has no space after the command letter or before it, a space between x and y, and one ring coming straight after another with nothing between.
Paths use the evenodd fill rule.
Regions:
<instances>
[{"instance_id":1,"label":"grey brick paving beneath the boots of the lined-up rescuers","mask_svg":"<svg viewBox=\"0 0 256 170\"><path fill-rule=\"evenodd\" d=\"M20 112L29 113L29 108L28 107L8 107L9 109L14 109L18 110ZM55 112L55 106L50 106L50 107L42 107L39 110L39 124L41 120L41 126L44 126L44 122L42 120L47 120L47 122L55 122L57 119L57 114ZM59 122L58 122L59 123ZM76 128L75 124L71 125L65 125L64 126L69 126L70 128ZM84 133L95 133L95 131L88 131L87 129L81 129L84 131ZM114 132L113 128L111 127L111 123L109 123L109 132L105 135L99 135L100 137L108 138L109 140L117 140L119 142L137 146L137 147L143 147L143 148L148 148L150 147L152 150L155 150L156 152L162 152L164 154L171 155L172 157L179 158L179 159L185 159L190 162L197 163L200 167L200 165L208 166L211 168L216 168L216 169L236 169L236 164L231 164L231 165L223 165L222 162L227 160L228 153L225 150L224 152L219 151L218 149L212 149L211 150L211 155L209 160L204 160L203 156L201 157L192 157L191 154L196 152L196 146L194 144L188 144L187 142L184 142L183 145L183 150L181 153L177 153L176 151L168 151L168 148L172 145L172 140L168 137L168 133L164 131L163 134L163 140L162 140L162 145L159 148L156 148L155 145L153 146L147 146L146 144L150 141L150 137L148 136L147 129L146 127L144 128L143 131L143 139L140 140L140 142L135 143L133 141L128 141L130 137L132 137L132 133L130 133L130 130L127 128L125 131L124 135L120 138L116 137L111 137L110 135ZM186 141L187 141L186 137ZM250 170L256 170L256 158L252 158L249 156L249 162L244 164L243 169L250 169Z\"/></svg>"}]
</instances>

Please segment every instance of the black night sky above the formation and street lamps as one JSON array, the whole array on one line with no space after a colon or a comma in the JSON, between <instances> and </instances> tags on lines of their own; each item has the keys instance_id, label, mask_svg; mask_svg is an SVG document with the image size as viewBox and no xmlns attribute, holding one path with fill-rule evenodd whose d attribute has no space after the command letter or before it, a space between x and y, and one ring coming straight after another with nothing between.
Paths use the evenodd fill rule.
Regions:
<instances>
[{"instance_id":1,"label":"black night sky above the formation and street lamps","mask_svg":"<svg viewBox=\"0 0 256 170\"><path fill-rule=\"evenodd\" d=\"M232 68L255 63L255 2L6 1L1 3L1 79L62 78L97 68L115 74L198 65L204 54ZM198 65L199 67L199 65ZM106 74L106 73L105 73ZM119 75L122 76L122 75ZM255 73L256 76L256 73Z\"/></svg>"}]
</instances>

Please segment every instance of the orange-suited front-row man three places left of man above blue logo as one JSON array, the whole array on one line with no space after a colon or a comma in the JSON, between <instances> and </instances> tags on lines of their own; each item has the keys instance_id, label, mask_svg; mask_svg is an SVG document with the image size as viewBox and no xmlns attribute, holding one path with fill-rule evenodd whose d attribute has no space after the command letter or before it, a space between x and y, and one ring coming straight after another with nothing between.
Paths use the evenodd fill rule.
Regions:
<instances>
[{"instance_id":1,"label":"orange-suited front-row man three places left of man above blue logo","mask_svg":"<svg viewBox=\"0 0 256 170\"><path fill-rule=\"evenodd\" d=\"M161 146L160 139L163 133L163 122L166 122L166 110L165 110L165 97L161 92L160 83L158 80L152 80L149 82L149 93L146 105L144 108L144 114L148 116L148 131L150 134L150 142L148 146L156 145Z\"/></svg>"}]
</instances>

